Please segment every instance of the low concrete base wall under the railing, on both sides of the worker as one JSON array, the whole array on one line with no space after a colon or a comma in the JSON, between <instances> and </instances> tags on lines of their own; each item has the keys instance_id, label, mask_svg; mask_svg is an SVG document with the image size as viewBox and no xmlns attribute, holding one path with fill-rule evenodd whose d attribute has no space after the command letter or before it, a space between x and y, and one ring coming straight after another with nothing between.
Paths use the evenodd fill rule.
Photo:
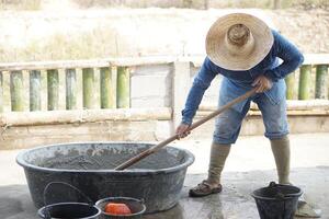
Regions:
<instances>
[{"instance_id":1,"label":"low concrete base wall under the railing, on both sides of the worker","mask_svg":"<svg viewBox=\"0 0 329 219\"><path fill-rule=\"evenodd\" d=\"M293 134L329 132L329 116L290 116L288 120ZM214 120L211 120L193 130L186 139L211 139L213 130ZM0 150L78 141L160 141L169 138L171 131L171 120L9 127L2 130ZM248 116L245 119L241 135L263 135L263 132L261 116Z\"/></svg>"}]
</instances>

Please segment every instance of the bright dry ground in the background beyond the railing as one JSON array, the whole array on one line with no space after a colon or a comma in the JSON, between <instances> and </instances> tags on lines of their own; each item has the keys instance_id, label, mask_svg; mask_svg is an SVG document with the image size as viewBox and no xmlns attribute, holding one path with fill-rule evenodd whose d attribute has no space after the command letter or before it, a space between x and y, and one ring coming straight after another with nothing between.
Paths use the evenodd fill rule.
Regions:
<instances>
[{"instance_id":1,"label":"bright dry ground in the background beyond the railing","mask_svg":"<svg viewBox=\"0 0 329 219\"><path fill-rule=\"evenodd\" d=\"M304 53L329 53L329 11L261 9L70 9L1 11L0 61L118 56L204 55L208 27L220 15L248 12Z\"/></svg>"}]
</instances>

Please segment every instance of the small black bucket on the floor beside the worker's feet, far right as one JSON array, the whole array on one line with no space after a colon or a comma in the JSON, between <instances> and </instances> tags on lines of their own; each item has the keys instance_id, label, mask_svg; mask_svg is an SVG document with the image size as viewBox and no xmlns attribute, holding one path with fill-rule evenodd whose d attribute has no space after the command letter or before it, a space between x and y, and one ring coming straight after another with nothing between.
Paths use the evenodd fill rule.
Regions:
<instances>
[{"instance_id":1,"label":"small black bucket on the floor beside the worker's feet, far right","mask_svg":"<svg viewBox=\"0 0 329 219\"><path fill-rule=\"evenodd\" d=\"M271 182L252 193L261 219L293 219L302 189Z\"/></svg>"}]
</instances>

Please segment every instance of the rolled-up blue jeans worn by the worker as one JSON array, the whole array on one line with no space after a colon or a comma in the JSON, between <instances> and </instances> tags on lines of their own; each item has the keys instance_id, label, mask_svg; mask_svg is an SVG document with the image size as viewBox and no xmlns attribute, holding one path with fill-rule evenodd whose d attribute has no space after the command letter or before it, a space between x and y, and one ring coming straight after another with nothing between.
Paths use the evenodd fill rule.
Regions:
<instances>
[{"instance_id":1,"label":"rolled-up blue jeans worn by the worker","mask_svg":"<svg viewBox=\"0 0 329 219\"><path fill-rule=\"evenodd\" d=\"M275 87L276 84L274 83L273 85ZM229 90L229 87L222 85L219 106L227 103ZM251 101L257 103L262 113L266 138L277 139L288 134L285 96L283 95L274 102L265 93L259 93L217 116L213 135L214 142L224 145L236 142L242 120L250 108Z\"/></svg>"}]
</instances>

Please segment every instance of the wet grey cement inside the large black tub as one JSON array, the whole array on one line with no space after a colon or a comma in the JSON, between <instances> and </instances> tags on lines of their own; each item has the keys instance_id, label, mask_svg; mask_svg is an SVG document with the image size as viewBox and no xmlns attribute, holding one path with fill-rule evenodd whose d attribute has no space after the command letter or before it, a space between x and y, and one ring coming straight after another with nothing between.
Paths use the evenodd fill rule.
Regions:
<instances>
[{"instance_id":1,"label":"wet grey cement inside the large black tub","mask_svg":"<svg viewBox=\"0 0 329 219\"><path fill-rule=\"evenodd\" d=\"M88 151L87 154L59 154L44 159L38 166L61 170L113 170L121 163L134 157L131 153L95 154ZM184 162L183 157L174 157L166 151L157 152L140 162L132 165L129 170L159 170L173 168Z\"/></svg>"}]
</instances>

